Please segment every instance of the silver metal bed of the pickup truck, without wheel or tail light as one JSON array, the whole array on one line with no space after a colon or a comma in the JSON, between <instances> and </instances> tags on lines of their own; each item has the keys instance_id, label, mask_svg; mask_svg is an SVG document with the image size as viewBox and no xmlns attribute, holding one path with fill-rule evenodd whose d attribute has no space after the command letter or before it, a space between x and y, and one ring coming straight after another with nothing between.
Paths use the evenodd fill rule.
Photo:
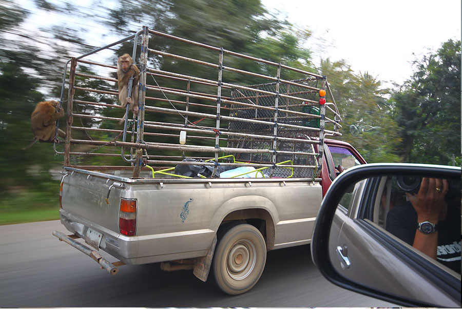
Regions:
<instances>
[{"instance_id":1,"label":"silver metal bed of the pickup truck, without wheel or tail light","mask_svg":"<svg viewBox=\"0 0 462 309\"><path fill-rule=\"evenodd\" d=\"M322 195L313 179L130 179L73 167L64 175L62 223L82 238L101 233L99 248L126 264L205 256L240 209L267 218L268 250L309 243ZM121 198L137 200L136 236L120 234Z\"/></svg>"}]
</instances>

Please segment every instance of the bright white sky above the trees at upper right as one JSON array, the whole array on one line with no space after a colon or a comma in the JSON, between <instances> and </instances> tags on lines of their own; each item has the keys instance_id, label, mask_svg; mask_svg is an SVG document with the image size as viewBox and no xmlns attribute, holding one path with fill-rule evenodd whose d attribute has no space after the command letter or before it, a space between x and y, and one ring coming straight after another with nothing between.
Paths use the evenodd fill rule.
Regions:
<instances>
[{"instance_id":1,"label":"bright white sky above the trees at upper right","mask_svg":"<svg viewBox=\"0 0 462 309\"><path fill-rule=\"evenodd\" d=\"M355 72L402 84L411 62L450 38L460 40L460 0L262 0L268 10L313 31L307 47L332 61L345 59ZM322 40L324 42L322 42ZM321 49L323 52L321 53ZM415 53L414 56L412 53Z\"/></svg>"}]
</instances>

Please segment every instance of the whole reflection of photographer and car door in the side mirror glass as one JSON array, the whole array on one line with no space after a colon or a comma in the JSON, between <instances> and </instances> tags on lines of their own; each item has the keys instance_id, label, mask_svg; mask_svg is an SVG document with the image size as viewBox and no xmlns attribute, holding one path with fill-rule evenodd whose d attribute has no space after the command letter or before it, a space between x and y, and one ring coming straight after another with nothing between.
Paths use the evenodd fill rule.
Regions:
<instances>
[{"instance_id":1,"label":"whole reflection of photographer and car door in the side mirror glass","mask_svg":"<svg viewBox=\"0 0 462 309\"><path fill-rule=\"evenodd\" d=\"M332 264L361 285L413 299L435 283L419 266L405 262L403 254L420 261L423 257L437 272L460 280L460 192L460 180L415 175L352 184L332 222ZM437 303L432 299L437 294L428 297L429 303Z\"/></svg>"}]
</instances>

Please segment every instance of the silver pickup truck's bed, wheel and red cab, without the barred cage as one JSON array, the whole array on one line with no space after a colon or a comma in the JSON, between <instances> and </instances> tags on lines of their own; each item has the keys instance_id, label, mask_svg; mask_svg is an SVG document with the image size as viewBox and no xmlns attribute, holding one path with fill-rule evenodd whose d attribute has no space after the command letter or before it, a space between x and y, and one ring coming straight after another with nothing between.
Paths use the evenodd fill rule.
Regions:
<instances>
[{"instance_id":1,"label":"silver pickup truck's bed, wheel and red cab, without the barred cage","mask_svg":"<svg viewBox=\"0 0 462 309\"><path fill-rule=\"evenodd\" d=\"M326 140L325 150L326 171L326 164L335 166L333 158L365 163L344 142ZM194 268L203 281L212 265L219 287L240 294L260 278L267 251L310 243L322 191L335 176L130 179L123 170L64 167L60 217L93 250L125 264L167 262L163 269Z\"/></svg>"}]
</instances>

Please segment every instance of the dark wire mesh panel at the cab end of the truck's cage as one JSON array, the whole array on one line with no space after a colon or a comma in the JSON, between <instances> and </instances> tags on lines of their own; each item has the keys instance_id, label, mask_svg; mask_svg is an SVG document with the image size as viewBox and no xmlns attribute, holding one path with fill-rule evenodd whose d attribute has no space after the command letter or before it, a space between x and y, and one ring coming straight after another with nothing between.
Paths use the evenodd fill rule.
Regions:
<instances>
[{"instance_id":1,"label":"dark wire mesh panel at the cab end of the truck's cage","mask_svg":"<svg viewBox=\"0 0 462 309\"><path fill-rule=\"evenodd\" d=\"M279 126L276 130L276 151L287 151L293 152L292 154L278 154L277 162L283 162L291 160L294 165L307 165L315 166L316 160L313 155L301 154L312 153L315 154L312 144L304 143L303 141L308 140L310 137L319 137L319 132L312 128L319 129L319 106L309 101L315 101L317 91L304 86L310 86L316 88L318 86L318 79L316 78L305 78L301 80L293 80L291 83L281 82L279 84L279 93L283 93L287 96L293 96L306 101L299 101L287 96L279 96L278 108L276 109L276 98L277 94L266 94L260 93L257 90L263 90L268 92L276 92L277 83L267 83L259 85L247 86L248 88L254 88L255 91L249 89L232 89L232 100L251 103L255 105L252 107L242 107L237 104L230 106L230 115L241 119L260 120L265 122L271 122L269 124L261 123L249 123L239 121L239 119L229 122L230 132L239 132L247 134L259 134L264 136L274 136L274 127L279 124L290 124L297 125L297 128L281 127ZM258 107L272 107L277 110L277 119L275 118L275 111L260 109ZM298 113L290 113L294 111ZM281 141L277 138L292 138L298 139L294 141ZM254 147L273 149L273 140L258 139L252 136L247 137L228 137L228 147L234 148L249 148ZM236 158L241 161L255 162L260 164L271 164L273 162L273 154L235 154ZM276 167L271 171L273 177L288 177L291 175L291 170L286 168ZM312 167L296 167L294 169L294 177L297 178L309 178L313 177Z\"/></svg>"}]
</instances>

